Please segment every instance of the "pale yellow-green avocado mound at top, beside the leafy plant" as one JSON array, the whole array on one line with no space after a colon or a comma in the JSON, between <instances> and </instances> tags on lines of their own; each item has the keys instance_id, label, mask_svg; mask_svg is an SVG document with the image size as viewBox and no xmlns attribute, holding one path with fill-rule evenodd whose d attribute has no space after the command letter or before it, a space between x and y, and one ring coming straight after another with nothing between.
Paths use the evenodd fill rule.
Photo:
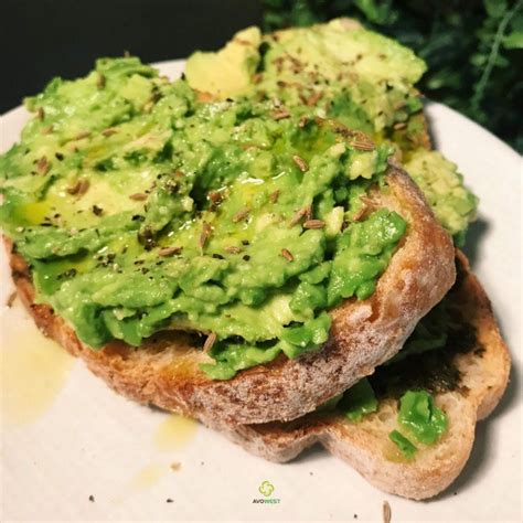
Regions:
<instances>
[{"instance_id":1,"label":"pale yellow-green avocado mound at top, beside the leafy plant","mask_svg":"<svg viewBox=\"0 0 523 523\"><path fill-rule=\"evenodd\" d=\"M276 97L301 114L337 118L375 139L408 131L410 148L415 135L423 131L412 118L421 109L413 86L426 66L399 43L343 19L249 39L249 45L243 34L236 34L217 53L193 54L185 67L189 84L222 99ZM234 56L230 62L236 65L234 74L222 72L225 54ZM253 71L249 86L245 83L247 70ZM220 82L216 85L210 78ZM235 78L239 78L237 84Z\"/></svg>"}]
</instances>

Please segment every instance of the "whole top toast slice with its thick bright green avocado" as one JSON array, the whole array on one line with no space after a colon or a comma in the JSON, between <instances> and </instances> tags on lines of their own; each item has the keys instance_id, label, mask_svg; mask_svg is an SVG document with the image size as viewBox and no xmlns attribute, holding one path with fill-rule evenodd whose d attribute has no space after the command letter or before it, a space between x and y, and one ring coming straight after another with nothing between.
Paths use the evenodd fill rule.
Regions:
<instances>
[{"instance_id":1,"label":"whole top toast slice with its thick bright green avocado","mask_svg":"<svg viewBox=\"0 0 523 523\"><path fill-rule=\"evenodd\" d=\"M39 323L135 399L299 417L394 355L453 281L394 150L340 121L201 100L132 57L28 107L1 160L15 278Z\"/></svg>"}]
</instances>

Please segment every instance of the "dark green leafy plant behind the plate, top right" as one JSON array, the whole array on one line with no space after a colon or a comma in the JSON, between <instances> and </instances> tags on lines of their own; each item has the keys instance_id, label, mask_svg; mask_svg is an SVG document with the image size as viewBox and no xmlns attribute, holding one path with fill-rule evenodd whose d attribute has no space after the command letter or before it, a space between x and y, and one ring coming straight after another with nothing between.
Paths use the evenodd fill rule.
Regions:
<instances>
[{"instance_id":1,"label":"dark green leafy plant behind the plate, top right","mask_svg":"<svg viewBox=\"0 0 523 523\"><path fill-rule=\"evenodd\" d=\"M420 88L523 152L523 0L264 0L265 30L353 17L413 47Z\"/></svg>"}]
</instances>

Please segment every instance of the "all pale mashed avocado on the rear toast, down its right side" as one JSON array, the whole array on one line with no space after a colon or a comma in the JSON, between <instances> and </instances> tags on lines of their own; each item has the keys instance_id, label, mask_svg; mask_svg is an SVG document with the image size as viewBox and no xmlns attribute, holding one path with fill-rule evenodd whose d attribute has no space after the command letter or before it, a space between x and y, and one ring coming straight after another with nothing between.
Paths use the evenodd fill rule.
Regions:
<instances>
[{"instance_id":1,"label":"all pale mashed avocado on the rear toast, down its right side","mask_svg":"<svg viewBox=\"0 0 523 523\"><path fill-rule=\"evenodd\" d=\"M263 38L252 28L249 45L242 43L243 34L217 53L193 54L185 67L190 85L218 98L276 98L301 115L335 118L394 145L438 220L458 245L463 243L478 199L463 186L456 164L425 149L421 99L414 87L426 70L420 58L346 19ZM235 74L222 74L225 54ZM252 72L250 85L246 71ZM217 84L210 78L218 78Z\"/></svg>"}]
</instances>

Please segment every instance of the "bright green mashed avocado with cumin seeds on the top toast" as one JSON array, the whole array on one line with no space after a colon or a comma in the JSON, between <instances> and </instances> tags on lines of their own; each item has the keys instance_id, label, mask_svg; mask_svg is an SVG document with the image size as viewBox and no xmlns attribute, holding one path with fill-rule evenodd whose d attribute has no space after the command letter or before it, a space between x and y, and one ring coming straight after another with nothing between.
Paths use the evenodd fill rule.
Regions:
<instances>
[{"instance_id":1,"label":"bright green mashed avocado with cumin seeds on the top toast","mask_svg":"<svg viewBox=\"0 0 523 523\"><path fill-rule=\"evenodd\" d=\"M279 100L199 102L127 57L26 107L0 221L38 300L95 349L199 331L214 378L317 350L327 311L373 293L406 230L361 212L392 149Z\"/></svg>"}]
</instances>

